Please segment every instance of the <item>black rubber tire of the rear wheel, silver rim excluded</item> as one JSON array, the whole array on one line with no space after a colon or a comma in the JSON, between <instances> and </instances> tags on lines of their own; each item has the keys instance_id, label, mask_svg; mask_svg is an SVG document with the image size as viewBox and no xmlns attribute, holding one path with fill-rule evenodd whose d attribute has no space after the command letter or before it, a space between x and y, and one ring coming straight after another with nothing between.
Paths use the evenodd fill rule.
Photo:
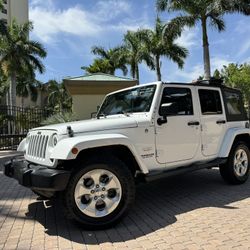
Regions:
<instances>
[{"instance_id":1,"label":"black rubber tire of the rear wheel, silver rim excluded","mask_svg":"<svg viewBox=\"0 0 250 250\"><path fill-rule=\"evenodd\" d=\"M237 175L234 168L234 157L238 150L244 150L248 158L248 167L247 171L243 176ZM244 141L236 142L230 151L228 161L226 164L220 166L220 174L222 178L229 184L243 184L247 181L250 173L250 151L247 144Z\"/></svg>"}]
</instances>

